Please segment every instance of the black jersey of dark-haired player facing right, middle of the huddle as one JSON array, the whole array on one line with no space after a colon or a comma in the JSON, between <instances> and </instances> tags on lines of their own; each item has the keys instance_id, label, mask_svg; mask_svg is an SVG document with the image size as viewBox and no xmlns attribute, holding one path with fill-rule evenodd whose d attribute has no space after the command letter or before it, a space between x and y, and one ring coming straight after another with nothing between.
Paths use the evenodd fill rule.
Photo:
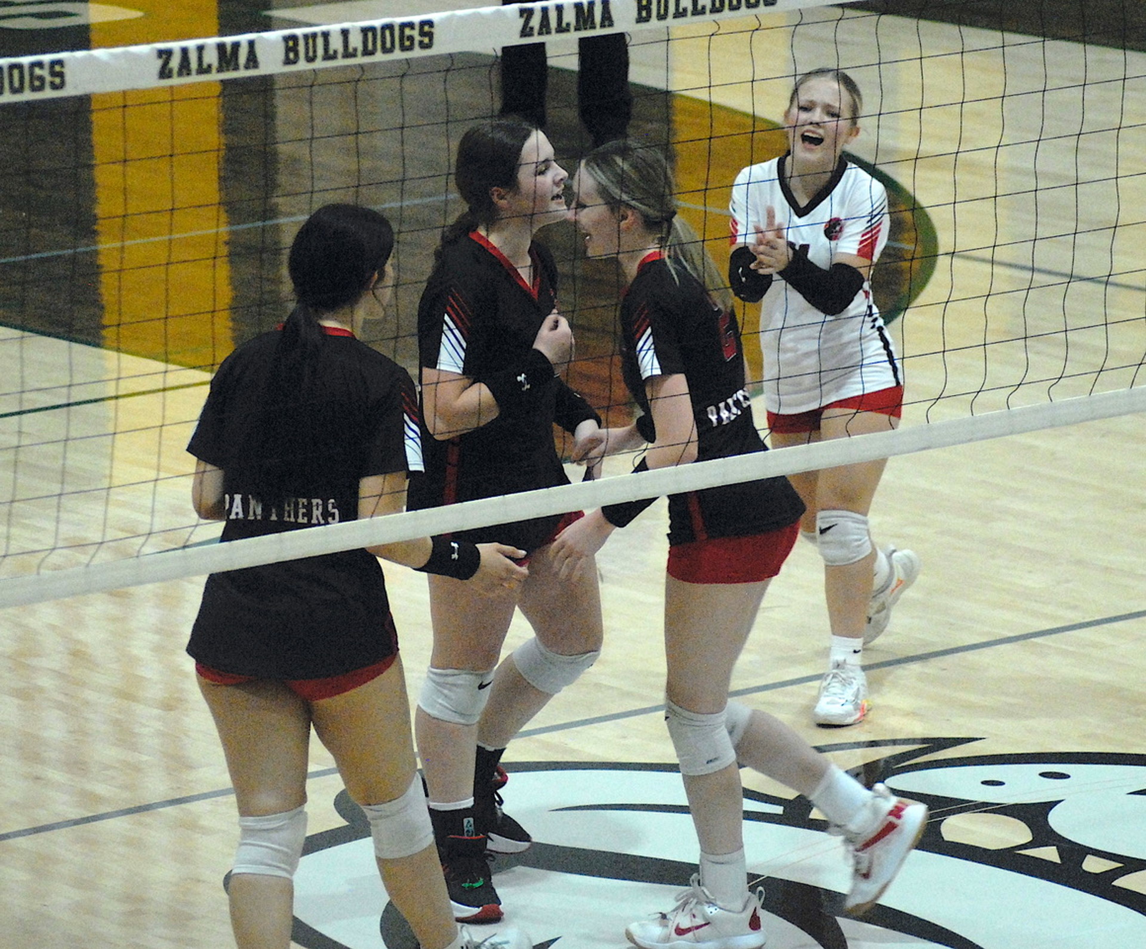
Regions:
<instances>
[{"instance_id":1,"label":"black jersey of dark-haired player facing right, middle of the huddle","mask_svg":"<svg viewBox=\"0 0 1146 949\"><path fill-rule=\"evenodd\" d=\"M478 232L442 248L418 307L421 364L482 382L520 366L557 305L557 268L542 244L529 248L533 285ZM439 440L423 422L425 473L410 480L409 507L432 508L568 484L554 442L554 423L572 432L597 415L560 378L524 407L456 438ZM559 516L461 532L533 550Z\"/></svg>"}]
</instances>

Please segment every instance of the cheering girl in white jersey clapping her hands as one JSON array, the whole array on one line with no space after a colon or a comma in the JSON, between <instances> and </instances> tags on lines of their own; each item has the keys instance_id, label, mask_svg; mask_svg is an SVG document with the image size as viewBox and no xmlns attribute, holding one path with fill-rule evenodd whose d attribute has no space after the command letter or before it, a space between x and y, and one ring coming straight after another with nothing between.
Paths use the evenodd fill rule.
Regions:
<instances>
[{"instance_id":1,"label":"cheering girl in white jersey clapping her hands","mask_svg":"<svg viewBox=\"0 0 1146 949\"><path fill-rule=\"evenodd\" d=\"M733 292L763 301L764 402L774 447L898 424L903 376L869 280L887 243L884 186L843 156L862 97L838 70L801 77L785 113L788 152L732 186ZM808 510L801 535L824 559L832 630L814 717L848 726L868 712L864 642L919 575L910 550L880 550L868 512L884 460L791 477Z\"/></svg>"}]
</instances>

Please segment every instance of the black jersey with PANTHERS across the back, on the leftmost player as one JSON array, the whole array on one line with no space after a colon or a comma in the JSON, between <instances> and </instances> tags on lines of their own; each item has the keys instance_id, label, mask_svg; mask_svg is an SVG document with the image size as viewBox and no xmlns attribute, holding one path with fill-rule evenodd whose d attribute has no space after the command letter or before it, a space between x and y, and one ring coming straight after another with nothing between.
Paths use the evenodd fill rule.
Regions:
<instances>
[{"instance_id":1,"label":"black jersey with PANTHERS across the back, on the leftmost player","mask_svg":"<svg viewBox=\"0 0 1146 949\"><path fill-rule=\"evenodd\" d=\"M346 330L324 328L312 370L320 398L299 405L284 495L260 496L240 446L259 444L278 332L240 346L219 367L188 452L223 471L231 541L358 518L359 479L422 466L409 374ZM361 548L214 573L187 651L237 675L322 679L398 649L378 560Z\"/></svg>"}]
</instances>

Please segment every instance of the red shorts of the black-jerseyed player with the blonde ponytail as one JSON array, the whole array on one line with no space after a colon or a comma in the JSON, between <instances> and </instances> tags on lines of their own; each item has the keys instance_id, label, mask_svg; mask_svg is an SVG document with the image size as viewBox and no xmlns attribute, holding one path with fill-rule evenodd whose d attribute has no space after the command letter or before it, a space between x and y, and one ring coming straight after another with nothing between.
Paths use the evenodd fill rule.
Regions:
<instances>
[{"instance_id":1,"label":"red shorts of the black-jerseyed player with the blonde ponytail","mask_svg":"<svg viewBox=\"0 0 1146 949\"><path fill-rule=\"evenodd\" d=\"M747 538L709 538L668 548L668 575L684 583L759 583L780 572L800 521Z\"/></svg>"}]
</instances>

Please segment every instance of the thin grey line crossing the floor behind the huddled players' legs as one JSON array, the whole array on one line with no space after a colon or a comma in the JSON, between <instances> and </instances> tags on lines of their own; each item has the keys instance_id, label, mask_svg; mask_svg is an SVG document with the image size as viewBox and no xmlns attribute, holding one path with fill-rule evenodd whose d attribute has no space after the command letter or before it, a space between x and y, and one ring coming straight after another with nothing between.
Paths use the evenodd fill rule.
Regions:
<instances>
[{"instance_id":1,"label":"thin grey line crossing the floor behind the huddled players' legs","mask_svg":"<svg viewBox=\"0 0 1146 949\"><path fill-rule=\"evenodd\" d=\"M1013 645L1015 643L1028 642L1030 640L1045 638L1047 636L1057 636L1061 633L1077 633L1082 629L1094 629L1100 626L1110 626L1120 622L1129 622L1137 619L1146 619L1146 610L1135 610L1129 613L1117 613L1112 617L1102 617L1094 620L1084 620L1082 622L1069 622L1062 626L1052 626L1047 629L1036 629L1030 633L1018 633L1013 636L1000 636L994 640L984 640L979 643L967 643L959 646L948 646L947 649L929 650L927 652L917 652L912 656L901 656L898 659L885 659L880 662L872 662L871 665L865 665L864 669L885 669L893 668L895 666L909 666L917 662L925 662L931 659L941 659L947 656L957 656L964 652L979 652L984 649L995 649L997 646ZM763 685L749 685L743 689L733 689L729 692L730 698L739 698L741 696L758 695L761 692L775 692L779 689L787 689L793 685L806 685L813 682L818 682L819 675L803 675L795 679L784 679L778 682L769 682ZM630 708L626 712L614 712L610 715L595 715L588 719L574 719L570 722L562 722L554 726L542 726L541 728L524 729L518 732L518 738L533 738L539 735L552 735L558 731L571 731L575 728L587 728L595 724L604 724L606 722L622 721L625 719L635 719L641 715L651 715L656 713L664 712L664 705L649 705L642 708ZM906 739L889 738L888 742L898 742ZM831 743L835 745L837 743ZM588 762L591 764L591 762ZM330 777L331 775L338 774L337 768L321 768L314 771L309 771L306 776L307 781ZM105 810L100 814L89 814L85 817L72 817L64 821L54 821L49 824L39 824L32 828L22 828L19 830L6 831L0 833L0 844L8 840L18 840L24 837L34 837L41 833L49 833L52 831L69 830L70 828L84 826L86 824L102 823L103 821L110 821L116 817L128 817L134 814L147 814L152 810L165 810L170 807L180 807L188 803L198 803L199 801L214 800L215 798L226 798L235 793L234 787L222 787L214 791L201 791L197 794L186 794L179 798L168 798L163 801L152 801L151 803L133 805L132 807L117 808L116 810Z\"/></svg>"}]
</instances>

